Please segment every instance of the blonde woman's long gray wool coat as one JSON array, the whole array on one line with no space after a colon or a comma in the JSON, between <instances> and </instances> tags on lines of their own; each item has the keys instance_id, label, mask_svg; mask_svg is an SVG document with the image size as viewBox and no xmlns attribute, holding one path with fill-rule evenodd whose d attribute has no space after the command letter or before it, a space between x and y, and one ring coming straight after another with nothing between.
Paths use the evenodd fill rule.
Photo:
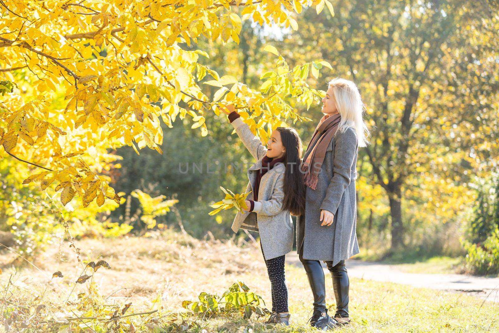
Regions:
<instances>
[{"instance_id":1,"label":"blonde woman's long gray wool coat","mask_svg":"<svg viewBox=\"0 0 499 333\"><path fill-rule=\"evenodd\" d=\"M313 144L313 143L311 143ZM297 217L298 253L303 258L336 265L359 253L356 225L355 179L358 141L353 128L331 140L318 175L317 188L306 187L305 215ZM305 154L303 161L308 154ZM333 224L321 227L321 209L334 214Z\"/></svg>"}]
</instances>

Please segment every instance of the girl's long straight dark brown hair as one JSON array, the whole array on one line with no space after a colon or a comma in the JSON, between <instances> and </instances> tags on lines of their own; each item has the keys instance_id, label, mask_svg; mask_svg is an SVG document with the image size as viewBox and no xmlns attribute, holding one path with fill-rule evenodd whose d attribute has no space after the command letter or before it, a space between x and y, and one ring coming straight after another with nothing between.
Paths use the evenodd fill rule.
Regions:
<instances>
[{"instance_id":1,"label":"girl's long straight dark brown hair","mask_svg":"<svg viewBox=\"0 0 499 333\"><path fill-rule=\"evenodd\" d=\"M286 152L284 154L284 202L282 210L289 210L291 215L305 214L305 183L299 170L302 144L298 132L292 127L277 127Z\"/></svg>"}]
</instances>

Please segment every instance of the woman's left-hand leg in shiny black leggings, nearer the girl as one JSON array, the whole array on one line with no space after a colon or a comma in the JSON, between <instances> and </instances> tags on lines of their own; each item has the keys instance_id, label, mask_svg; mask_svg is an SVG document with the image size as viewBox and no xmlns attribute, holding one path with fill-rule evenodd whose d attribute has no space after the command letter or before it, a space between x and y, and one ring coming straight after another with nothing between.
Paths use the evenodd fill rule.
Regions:
<instances>
[{"instance_id":1,"label":"woman's left-hand leg in shiny black leggings, nearer the girl","mask_svg":"<svg viewBox=\"0 0 499 333\"><path fill-rule=\"evenodd\" d=\"M307 273L308 283L313 294L314 315L316 313L327 313L326 311L326 287L324 282L324 271L318 260L303 259L303 246L300 250L300 261Z\"/></svg>"}]
</instances>

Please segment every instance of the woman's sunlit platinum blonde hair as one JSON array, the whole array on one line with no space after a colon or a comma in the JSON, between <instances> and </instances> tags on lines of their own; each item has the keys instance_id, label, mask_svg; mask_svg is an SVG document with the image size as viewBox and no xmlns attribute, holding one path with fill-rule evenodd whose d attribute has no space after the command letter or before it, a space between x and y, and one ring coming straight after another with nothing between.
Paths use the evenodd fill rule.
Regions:
<instances>
[{"instance_id":1,"label":"woman's sunlit platinum blonde hair","mask_svg":"<svg viewBox=\"0 0 499 333\"><path fill-rule=\"evenodd\" d=\"M336 108L341 115L338 130L344 133L348 127L352 127L357 134L359 147L367 146L369 144L367 138L370 134L367 124L362 119L364 103L357 85L340 77L332 79L328 84L333 90Z\"/></svg>"}]
</instances>

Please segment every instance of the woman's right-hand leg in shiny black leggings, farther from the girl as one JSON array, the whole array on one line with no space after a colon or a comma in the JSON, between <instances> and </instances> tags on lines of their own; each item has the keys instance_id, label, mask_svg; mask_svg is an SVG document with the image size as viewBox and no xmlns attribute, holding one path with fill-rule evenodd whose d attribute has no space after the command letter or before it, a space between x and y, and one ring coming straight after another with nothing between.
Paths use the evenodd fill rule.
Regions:
<instances>
[{"instance_id":1,"label":"woman's right-hand leg in shiny black leggings, farther from the girl","mask_svg":"<svg viewBox=\"0 0 499 333\"><path fill-rule=\"evenodd\" d=\"M332 262L329 261L326 262L326 265L329 272L331 272L334 297L336 298L336 314L334 315L334 318L342 325L348 324L348 292L350 289L350 281L348 280L345 261L342 260L335 266L332 266Z\"/></svg>"}]
</instances>

